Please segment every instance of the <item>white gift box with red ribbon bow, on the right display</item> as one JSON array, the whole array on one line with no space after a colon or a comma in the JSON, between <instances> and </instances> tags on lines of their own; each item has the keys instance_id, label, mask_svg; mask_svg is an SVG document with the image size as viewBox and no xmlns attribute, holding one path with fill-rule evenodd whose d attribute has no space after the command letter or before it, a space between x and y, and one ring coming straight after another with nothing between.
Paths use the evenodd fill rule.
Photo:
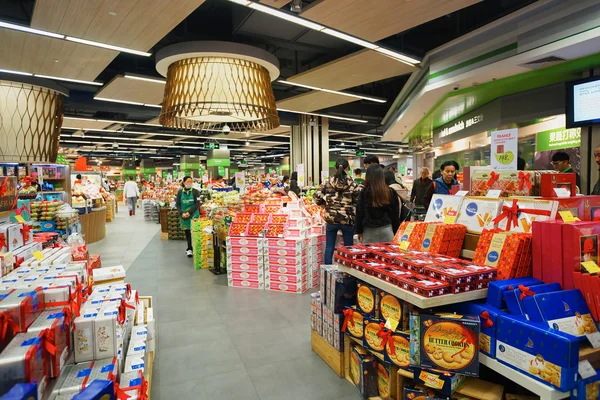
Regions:
<instances>
[{"instance_id":1,"label":"white gift box with red ribbon bow, on the right display","mask_svg":"<svg viewBox=\"0 0 600 400\"><path fill-rule=\"evenodd\" d=\"M529 233L533 221L553 220L557 210L558 202L554 200L506 199L494 223L503 231Z\"/></svg>"}]
</instances>

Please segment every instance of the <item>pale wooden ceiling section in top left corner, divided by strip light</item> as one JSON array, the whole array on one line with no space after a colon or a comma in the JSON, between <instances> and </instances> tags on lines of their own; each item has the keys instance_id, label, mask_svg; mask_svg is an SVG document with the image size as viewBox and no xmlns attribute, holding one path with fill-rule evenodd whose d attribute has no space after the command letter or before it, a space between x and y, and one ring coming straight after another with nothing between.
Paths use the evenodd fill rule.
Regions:
<instances>
[{"instance_id":1,"label":"pale wooden ceiling section in top left corner, divided by strip light","mask_svg":"<svg viewBox=\"0 0 600 400\"><path fill-rule=\"evenodd\" d=\"M204 1L37 0L31 27L148 51ZM0 29L0 68L94 80L118 54Z\"/></svg>"}]
</instances>

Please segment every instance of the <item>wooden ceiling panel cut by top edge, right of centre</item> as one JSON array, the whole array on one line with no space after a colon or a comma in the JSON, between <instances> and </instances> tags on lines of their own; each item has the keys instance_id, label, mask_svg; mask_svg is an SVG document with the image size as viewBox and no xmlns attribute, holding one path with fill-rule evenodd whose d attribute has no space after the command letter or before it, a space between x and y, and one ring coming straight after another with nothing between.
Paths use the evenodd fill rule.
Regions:
<instances>
[{"instance_id":1,"label":"wooden ceiling panel cut by top edge, right of centre","mask_svg":"<svg viewBox=\"0 0 600 400\"><path fill-rule=\"evenodd\" d=\"M320 0L302 17L378 41L481 0Z\"/></svg>"}]
</instances>

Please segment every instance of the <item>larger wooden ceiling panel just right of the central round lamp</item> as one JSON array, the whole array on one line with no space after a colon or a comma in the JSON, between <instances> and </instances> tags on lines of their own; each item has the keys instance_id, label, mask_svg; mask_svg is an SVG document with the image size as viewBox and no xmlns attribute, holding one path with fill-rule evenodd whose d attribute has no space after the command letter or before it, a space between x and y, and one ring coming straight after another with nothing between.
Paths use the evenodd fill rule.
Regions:
<instances>
[{"instance_id":1,"label":"larger wooden ceiling panel just right of the central round lamp","mask_svg":"<svg viewBox=\"0 0 600 400\"><path fill-rule=\"evenodd\" d=\"M287 80L326 89L343 90L409 74L416 69L373 50L361 50L294 75Z\"/></svg>"}]
</instances>

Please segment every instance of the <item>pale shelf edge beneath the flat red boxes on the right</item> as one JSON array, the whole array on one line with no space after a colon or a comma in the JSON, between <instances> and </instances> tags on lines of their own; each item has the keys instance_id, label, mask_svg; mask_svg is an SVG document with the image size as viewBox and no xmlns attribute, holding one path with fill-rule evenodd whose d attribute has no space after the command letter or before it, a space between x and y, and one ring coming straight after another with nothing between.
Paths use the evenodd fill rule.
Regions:
<instances>
[{"instance_id":1,"label":"pale shelf edge beneath the flat red boxes on the right","mask_svg":"<svg viewBox=\"0 0 600 400\"><path fill-rule=\"evenodd\" d=\"M485 299L487 296L487 289L481 289L459 294L446 294L443 296L436 297L423 297L419 296L418 294L411 293L408 290L401 289L398 286L392 285L389 282L382 281L381 279L377 279L371 275L367 275L364 272L355 270L353 268L338 265L338 269L342 272L347 273L348 275L352 275L363 282L367 282L419 308L432 308L448 304L463 303L465 301Z\"/></svg>"}]
</instances>

